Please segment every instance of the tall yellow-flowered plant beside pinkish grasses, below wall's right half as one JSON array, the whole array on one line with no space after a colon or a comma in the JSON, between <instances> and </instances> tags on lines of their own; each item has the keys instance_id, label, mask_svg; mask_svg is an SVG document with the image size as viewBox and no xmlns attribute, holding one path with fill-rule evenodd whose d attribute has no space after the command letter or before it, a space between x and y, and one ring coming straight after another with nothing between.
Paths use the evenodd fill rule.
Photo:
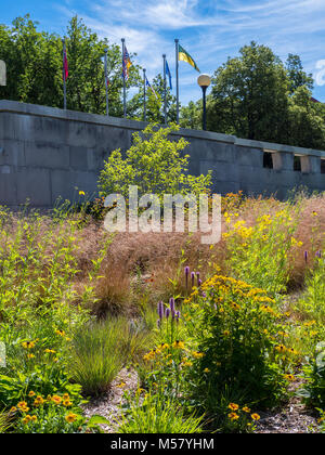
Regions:
<instances>
[{"instance_id":1,"label":"tall yellow-flowered plant beside pinkish grasses, below wall's right half","mask_svg":"<svg viewBox=\"0 0 325 455\"><path fill-rule=\"evenodd\" d=\"M294 237L297 221L291 208L284 207L274 217L258 216L252 226L247 226L244 220L236 221L235 212L224 214L229 227L223 238L227 240L233 275L273 295L285 291L290 255L302 246Z\"/></svg>"}]
</instances>

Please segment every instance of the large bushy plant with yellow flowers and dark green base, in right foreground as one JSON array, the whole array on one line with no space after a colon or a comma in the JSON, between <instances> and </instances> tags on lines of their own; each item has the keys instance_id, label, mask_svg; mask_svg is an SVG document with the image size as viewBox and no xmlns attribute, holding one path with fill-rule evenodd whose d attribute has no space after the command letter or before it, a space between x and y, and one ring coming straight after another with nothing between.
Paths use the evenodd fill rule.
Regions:
<instances>
[{"instance_id":1,"label":"large bushy plant with yellow flowers and dark green base, in right foreground","mask_svg":"<svg viewBox=\"0 0 325 455\"><path fill-rule=\"evenodd\" d=\"M283 344L284 316L262 289L214 275L190 299L187 325L202 353L188 382L197 404L210 414L227 402L269 405L285 391L294 349Z\"/></svg>"}]
</instances>

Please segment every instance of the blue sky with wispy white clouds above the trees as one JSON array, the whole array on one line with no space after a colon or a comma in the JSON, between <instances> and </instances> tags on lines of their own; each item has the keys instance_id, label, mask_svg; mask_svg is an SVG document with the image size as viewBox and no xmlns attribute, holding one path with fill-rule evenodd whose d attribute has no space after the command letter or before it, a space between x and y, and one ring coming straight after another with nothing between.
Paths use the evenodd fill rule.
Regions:
<instances>
[{"instance_id":1,"label":"blue sky with wispy white clouds above the trees","mask_svg":"<svg viewBox=\"0 0 325 455\"><path fill-rule=\"evenodd\" d=\"M173 89L174 38L209 75L255 40L282 60L299 54L314 77L314 98L325 102L325 0L14 0L1 10L2 24L30 13L40 29L62 36L78 14L100 37L118 44L126 38L150 80L162 72L166 53ZM183 105L200 98L197 77L192 66L180 62Z\"/></svg>"}]
</instances>

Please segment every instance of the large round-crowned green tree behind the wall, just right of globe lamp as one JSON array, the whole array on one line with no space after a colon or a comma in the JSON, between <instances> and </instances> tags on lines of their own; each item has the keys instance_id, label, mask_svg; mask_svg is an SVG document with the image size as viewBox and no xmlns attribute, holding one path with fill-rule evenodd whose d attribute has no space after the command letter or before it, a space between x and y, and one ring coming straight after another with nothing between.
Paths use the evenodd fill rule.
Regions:
<instances>
[{"instance_id":1,"label":"large round-crowned green tree behind the wall, just right of globe lamp","mask_svg":"<svg viewBox=\"0 0 325 455\"><path fill-rule=\"evenodd\" d=\"M251 42L229 58L212 79L208 128L240 138L286 139L289 81L270 48Z\"/></svg>"}]
</instances>

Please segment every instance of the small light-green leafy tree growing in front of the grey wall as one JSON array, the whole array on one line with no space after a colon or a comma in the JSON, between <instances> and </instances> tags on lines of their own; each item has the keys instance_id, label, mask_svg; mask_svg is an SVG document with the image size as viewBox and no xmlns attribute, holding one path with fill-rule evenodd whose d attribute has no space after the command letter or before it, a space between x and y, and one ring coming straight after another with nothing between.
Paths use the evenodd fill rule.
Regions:
<instances>
[{"instance_id":1,"label":"small light-green leafy tree growing in front of the grey wall","mask_svg":"<svg viewBox=\"0 0 325 455\"><path fill-rule=\"evenodd\" d=\"M118 193L128 197L129 186L138 185L139 195L207 193L211 174L187 173L188 155L181 152L188 145L184 138L168 139L179 130L178 125L156 128L148 125L142 133L133 134L133 145L123 157L120 148L112 152L104 162L99 186L101 196Z\"/></svg>"}]
</instances>

